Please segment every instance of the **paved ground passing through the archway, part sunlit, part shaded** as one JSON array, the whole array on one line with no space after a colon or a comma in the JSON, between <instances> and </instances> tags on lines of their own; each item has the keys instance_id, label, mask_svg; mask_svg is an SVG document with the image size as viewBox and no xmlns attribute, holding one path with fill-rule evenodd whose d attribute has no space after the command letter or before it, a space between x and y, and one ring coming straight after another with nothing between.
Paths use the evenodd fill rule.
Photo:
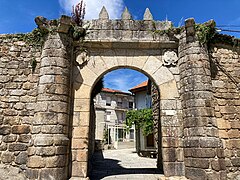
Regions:
<instances>
[{"instance_id":1,"label":"paved ground passing through the archway, part sunlit, part shaded","mask_svg":"<svg viewBox=\"0 0 240 180\"><path fill-rule=\"evenodd\" d=\"M134 149L105 150L93 157L91 180L165 179L156 168L156 159L139 157Z\"/></svg>"}]
</instances>

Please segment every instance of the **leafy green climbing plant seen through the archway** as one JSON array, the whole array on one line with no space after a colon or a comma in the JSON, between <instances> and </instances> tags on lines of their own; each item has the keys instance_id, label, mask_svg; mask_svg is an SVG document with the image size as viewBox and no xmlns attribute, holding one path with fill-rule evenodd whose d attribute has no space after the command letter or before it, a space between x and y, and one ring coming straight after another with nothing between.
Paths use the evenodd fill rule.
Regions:
<instances>
[{"instance_id":1,"label":"leafy green climbing plant seen through the archway","mask_svg":"<svg viewBox=\"0 0 240 180\"><path fill-rule=\"evenodd\" d=\"M154 121L152 109L130 110L126 115L126 126L129 130L134 124L137 129L142 129L145 136L153 133Z\"/></svg>"}]
</instances>

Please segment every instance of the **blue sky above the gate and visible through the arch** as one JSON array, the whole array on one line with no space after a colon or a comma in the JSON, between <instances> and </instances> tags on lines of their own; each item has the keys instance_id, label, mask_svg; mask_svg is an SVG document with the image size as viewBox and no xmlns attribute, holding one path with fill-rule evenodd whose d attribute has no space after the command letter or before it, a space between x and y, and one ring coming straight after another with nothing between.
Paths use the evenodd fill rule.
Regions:
<instances>
[{"instance_id":1,"label":"blue sky above the gate and visible through the arch","mask_svg":"<svg viewBox=\"0 0 240 180\"><path fill-rule=\"evenodd\" d=\"M72 5L77 2L79 0L0 0L0 34L30 32L36 27L36 16L57 19L61 14L70 15ZM148 7L155 20L167 18L175 26L183 25L185 19L194 17L197 23L214 19L217 26L232 26L222 27L224 29L240 30L240 0L85 0L85 3L86 19L98 18L103 5L110 18L119 18L127 6L134 19L142 19ZM231 35L240 38L240 33ZM135 71L113 71L106 75L105 86L125 91L144 81L144 78Z\"/></svg>"}]
</instances>

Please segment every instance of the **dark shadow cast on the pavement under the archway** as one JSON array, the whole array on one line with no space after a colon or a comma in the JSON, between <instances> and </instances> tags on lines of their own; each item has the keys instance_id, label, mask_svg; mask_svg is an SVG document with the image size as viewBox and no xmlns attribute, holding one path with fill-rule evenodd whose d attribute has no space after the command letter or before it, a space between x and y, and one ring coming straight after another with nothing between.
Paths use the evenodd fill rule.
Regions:
<instances>
[{"instance_id":1,"label":"dark shadow cast on the pavement under the archway","mask_svg":"<svg viewBox=\"0 0 240 180\"><path fill-rule=\"evenodd\" d=\"M157 168L125 168L119 163L119 160L104 159L102 151L95 152L91 160L90 180L100 180L108 176L125 174L163 174L162 170Z\"/></svg>"}]
</instances>

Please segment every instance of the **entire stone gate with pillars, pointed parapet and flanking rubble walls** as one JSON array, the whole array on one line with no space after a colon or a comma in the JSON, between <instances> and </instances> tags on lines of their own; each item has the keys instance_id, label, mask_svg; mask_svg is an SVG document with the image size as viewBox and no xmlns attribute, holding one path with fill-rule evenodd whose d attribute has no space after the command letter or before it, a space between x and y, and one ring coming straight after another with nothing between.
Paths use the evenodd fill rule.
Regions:
<instances>
[{"instance_id":1,"label":"entire stone gate with pillars, pointed parapet and flanking rubble walls","mask_svg":"<svg viewBox=\"0 0 240 180\"><path fill-rule=\"evenodd\" d=\"M148 9L136 21L127 9L122 19L110 20L103 8L99 19L84 22L84 41L71 36L70 17L36 22L54 30L42 50L23 35L0 36L4 168L17 168L27 179L87 178L94 149L92 90L104 74L130 68L160 92L158 164L165 176L240 177L239 40L217 35L227 41L207 49L193 19L173 29L169 21L154 21Z\"/></svg>"}]
</instances>

